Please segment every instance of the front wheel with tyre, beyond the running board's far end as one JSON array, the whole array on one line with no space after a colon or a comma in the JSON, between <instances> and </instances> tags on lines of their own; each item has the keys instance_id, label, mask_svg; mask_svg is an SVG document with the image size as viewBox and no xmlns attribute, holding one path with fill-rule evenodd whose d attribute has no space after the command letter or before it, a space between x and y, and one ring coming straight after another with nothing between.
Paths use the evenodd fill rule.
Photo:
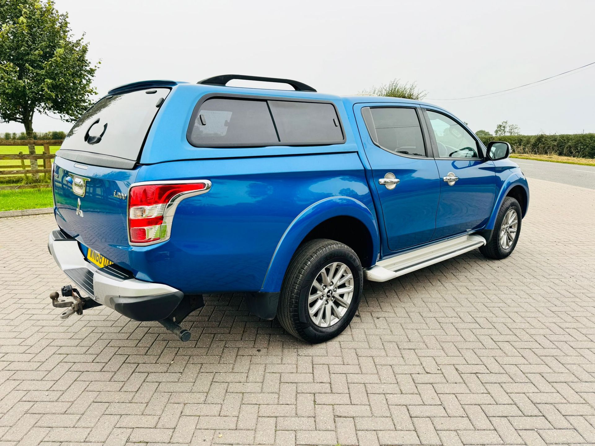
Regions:
<instances>
[{"instance_id":1,"label":"front wheel with tyre, beyond the running board's far end","mask_svg":"<svg viewBox=\"0 0 595 446\"><path fill-rule=\"evenodd\" d=\"M515 250L521 234L521 205L512 197L505 197L498 211L494 231L480 252L489 259L504 259ZM512 240L511 240L512 238Z\"/></svg>"}]
</instances>

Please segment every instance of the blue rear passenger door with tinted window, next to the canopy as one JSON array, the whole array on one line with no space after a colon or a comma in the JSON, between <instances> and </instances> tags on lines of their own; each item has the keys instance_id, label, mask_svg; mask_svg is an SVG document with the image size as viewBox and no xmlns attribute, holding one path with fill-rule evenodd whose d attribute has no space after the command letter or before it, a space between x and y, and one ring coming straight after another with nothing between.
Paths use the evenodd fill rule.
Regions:
<instances>
[{"instance_id":1,"label":"blue rear passenger door with tinted window, next to the canopy","mask_svg":"<svg viewBox=\"0 0 595 446\"><path fill-rule=\"evenodd\" d=\"M427 243L436 229L440 181L421 130L421 109L378 103L356 105L354 111L389 250Z\"/></svg>"}]
</instances>

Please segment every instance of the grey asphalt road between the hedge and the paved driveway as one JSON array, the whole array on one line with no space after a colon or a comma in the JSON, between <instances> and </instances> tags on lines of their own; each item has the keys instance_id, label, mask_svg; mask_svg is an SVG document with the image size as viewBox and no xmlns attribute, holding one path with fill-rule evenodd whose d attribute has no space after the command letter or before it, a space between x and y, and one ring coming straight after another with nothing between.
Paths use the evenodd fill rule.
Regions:
<instances>
[{"instance_id":1,"label":"grey asphalt road between the hedge and the paved driveway","mask_svg":"<svg viewBox=\"0 0 595 446\"><path fill-rule=\"evenodd\" d=\"M595 167L593 166L519 158L511 158L511 161L519 165L527 178L595 189Z\"/></svg>"}]
</instances>

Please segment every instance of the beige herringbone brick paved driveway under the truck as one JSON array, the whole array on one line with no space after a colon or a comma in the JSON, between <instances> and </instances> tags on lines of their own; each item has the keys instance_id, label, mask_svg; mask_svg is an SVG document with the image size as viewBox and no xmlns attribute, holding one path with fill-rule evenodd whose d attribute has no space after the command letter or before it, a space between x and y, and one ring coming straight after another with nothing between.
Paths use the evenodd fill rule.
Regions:
<instances>
[{"instance_id":1,"label":"beige herringbone brick paved driveway under the truck","mask_svg":"<svg viewBox=\"0 0 595 446\"><path fill-rule=\"evenodd\" d=\"M512 257L367 282L308 346L206 296L181 343L57 318L51 215L0 220L0 444L595 444L595 191L531 181Z\"/></svg>"}]
</instances>

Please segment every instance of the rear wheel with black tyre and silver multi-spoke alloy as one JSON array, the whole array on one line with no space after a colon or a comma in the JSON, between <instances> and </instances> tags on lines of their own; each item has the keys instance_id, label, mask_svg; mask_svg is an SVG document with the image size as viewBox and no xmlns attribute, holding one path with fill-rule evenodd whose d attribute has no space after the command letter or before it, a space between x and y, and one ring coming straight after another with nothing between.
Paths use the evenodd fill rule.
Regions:
<instances>
[{"instance_id":1,"label":"rear wheel with black tyre and silver multi-spoke alloy","mask_svg":"<svg viewBox=\"0 0 595 446\"><path fill-rule=\"evenodd\" d=\"M346 244L327 239L304 243L287 268L277 320L309 343L334 338L355 316L363 275L358 256Z\"/></svg>"}]
</instances>

